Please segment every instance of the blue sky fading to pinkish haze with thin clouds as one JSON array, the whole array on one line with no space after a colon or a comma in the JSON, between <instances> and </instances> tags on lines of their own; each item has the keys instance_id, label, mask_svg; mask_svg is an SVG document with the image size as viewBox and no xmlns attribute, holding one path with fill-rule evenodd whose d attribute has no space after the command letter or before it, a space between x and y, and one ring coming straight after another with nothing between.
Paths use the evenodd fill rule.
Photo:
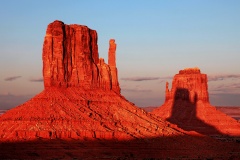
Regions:
<instances>
[{"instance_id":1,"label":"blue sky fading to pinkish haze with thin clouds","mask_svg":"<svg viewBox=\"0 0 240 160\"><path fill-rule=\"evenodd\" d=\"M43 90L42 45L54 20L96 30L105 61L116 40L121 93L139 107L162 105L166 81L190 67L208 75L212 105L240 106L239 8L239 0L2 0L0 110Z\"/></svg>"}]
</instances>

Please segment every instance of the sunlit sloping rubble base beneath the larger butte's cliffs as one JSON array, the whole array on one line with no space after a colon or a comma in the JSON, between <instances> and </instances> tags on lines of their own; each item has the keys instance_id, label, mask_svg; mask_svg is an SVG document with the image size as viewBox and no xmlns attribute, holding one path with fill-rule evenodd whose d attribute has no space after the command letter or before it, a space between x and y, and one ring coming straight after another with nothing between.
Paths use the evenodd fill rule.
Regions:
<instances>
[{"instance_id":1,"label":"sunlit sloping rubble base beneath the larger butte's cliffs","mask_svg":"<svg viewBox=\"0 0 240 160\"><path fill-rule=\"evenodd\" d=\"M161 122L161 123L160 123ZM135 139L182 135L115 92L48 88L0 117L1 140Z\"/></svg>"}]
</instances>

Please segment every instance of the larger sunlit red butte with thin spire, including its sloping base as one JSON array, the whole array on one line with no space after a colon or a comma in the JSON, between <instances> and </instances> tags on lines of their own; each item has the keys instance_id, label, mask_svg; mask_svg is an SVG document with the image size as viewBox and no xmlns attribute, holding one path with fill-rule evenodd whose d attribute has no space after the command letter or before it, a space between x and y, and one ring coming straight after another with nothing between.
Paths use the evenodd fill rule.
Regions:
<instances>
[{"instance_id":1,"label":"larger sunlit red butte with thin spire, including its sloping base","mask_svg":"<svg viewBox=\"0 0 240 160\"><path fill-rule=\"evenodd\" d=\"M42 53L44 90L0 117L0 141L182 135L120 94L116 46L111 39L106 64L98 56L96 31L50 23Z\"/></svg>"}]
</instances>

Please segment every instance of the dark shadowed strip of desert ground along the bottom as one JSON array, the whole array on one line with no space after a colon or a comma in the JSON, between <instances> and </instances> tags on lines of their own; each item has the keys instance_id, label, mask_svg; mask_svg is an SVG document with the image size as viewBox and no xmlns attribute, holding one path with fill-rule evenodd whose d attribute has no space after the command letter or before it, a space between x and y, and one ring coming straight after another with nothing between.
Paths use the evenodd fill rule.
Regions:
<instances>
[{"instance_id":1,"label":"dark shadowed strip of desert ground along the bottom","mask_svg":"<svg viewBox=\"0 0 240 160\"><path fill-rule=\"evenodd\" d=\"M237 159L240 144L188 135L138 140L37 140L0 143L1 159Z\"/></svg>"}]
</instances>

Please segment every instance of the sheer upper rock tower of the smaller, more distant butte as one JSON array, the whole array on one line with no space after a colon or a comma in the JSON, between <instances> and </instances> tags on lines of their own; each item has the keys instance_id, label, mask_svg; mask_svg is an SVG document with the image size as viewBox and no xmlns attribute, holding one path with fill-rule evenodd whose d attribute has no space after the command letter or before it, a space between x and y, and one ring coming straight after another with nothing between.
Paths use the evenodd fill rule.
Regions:
<instances>
[{"instance_id":1,"label":"sheer upper rock tower of the smaller, more distant butte","mask_svg":"<svg viewBox=\"0 0 240 160\"><path fill-rule=\"evenodd\" d=\"M182 89L182 92L179 89ZM185 93L184 89L189 93ZM176 93L177 90L178 92ZM192 103L199 100L209 103L207 75L201 74L199 68L180 70L179 74L176 74L173 78L172 89L170 91L168 89L168 82L166 84L165 101L173 100L174 98L189 99Z\"/></svg>"}]
</instances>

